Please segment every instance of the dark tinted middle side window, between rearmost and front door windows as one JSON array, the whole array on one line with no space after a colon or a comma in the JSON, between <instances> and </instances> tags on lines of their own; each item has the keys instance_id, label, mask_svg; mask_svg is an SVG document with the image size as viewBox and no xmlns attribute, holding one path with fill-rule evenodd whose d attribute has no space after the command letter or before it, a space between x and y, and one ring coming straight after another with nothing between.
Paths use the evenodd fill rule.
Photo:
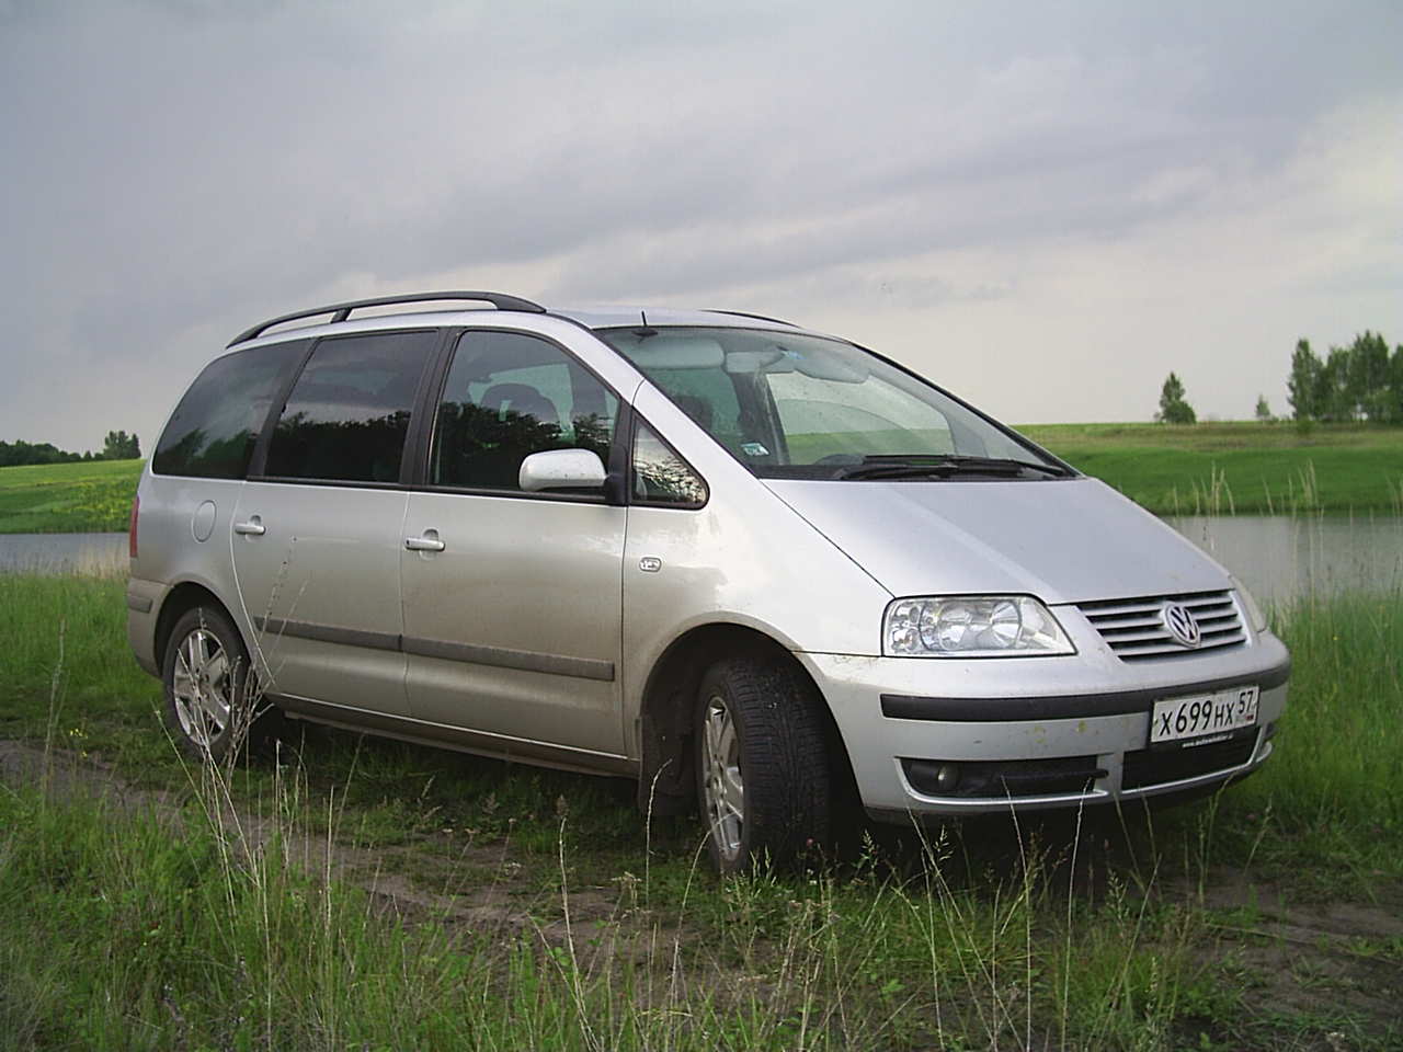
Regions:
<instances>
[{"instance_id":1,"label":"dark tinted middle side window, between rearmost and front door windows","mask_svg":"<svg viewBox=\"0 0 1403 1052\"><path fill-rule=\"evenodd\" d=\"M275 478L396 483L414 391L438 332L324 339L278 418L267 473Z\"/></svg>"}]
</instances>

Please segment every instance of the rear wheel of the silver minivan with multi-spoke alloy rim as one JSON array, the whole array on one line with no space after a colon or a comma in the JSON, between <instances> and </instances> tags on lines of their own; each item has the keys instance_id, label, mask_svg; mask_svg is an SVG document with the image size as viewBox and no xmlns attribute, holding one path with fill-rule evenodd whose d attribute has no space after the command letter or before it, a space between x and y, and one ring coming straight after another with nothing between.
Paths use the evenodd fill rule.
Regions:
<instances>
[{"instance_id":1,"label":"rear wheel of the silver minivan with multi-spoke alloy rim","mask_svg":"<svg viewBox=\"0 0 1403 1052\"><path fill-rule=\"evenodd\" d=\"M196 606L171 628L161 666L166 724L195 760L237 755L254 731L248 649L216 606Z\"/></svg>"}]
</instances>

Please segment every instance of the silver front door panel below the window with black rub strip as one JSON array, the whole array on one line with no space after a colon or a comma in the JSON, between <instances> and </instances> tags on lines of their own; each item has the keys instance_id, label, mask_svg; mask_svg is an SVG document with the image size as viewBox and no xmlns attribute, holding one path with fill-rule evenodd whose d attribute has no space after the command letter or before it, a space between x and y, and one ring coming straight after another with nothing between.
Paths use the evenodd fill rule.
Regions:
<instances>
[{"instance_id":1,"label":"silver front door panel below the window with black rub strip","mask_svg":"<svg viewBox=\"0 0 1403 1052\"><path fill-rule=\"evenodd\" d=\"M404 536L434 530L445 546L401 554L414 718L622 755L626 513L598 504L411 494Z\"/></svg>"}]
</instances>

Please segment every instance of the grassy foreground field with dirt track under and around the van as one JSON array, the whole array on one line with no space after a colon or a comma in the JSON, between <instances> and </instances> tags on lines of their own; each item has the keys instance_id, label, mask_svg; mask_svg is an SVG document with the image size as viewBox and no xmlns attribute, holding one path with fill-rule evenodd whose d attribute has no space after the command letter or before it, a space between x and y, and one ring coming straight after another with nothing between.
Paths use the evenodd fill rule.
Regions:
<instances>
[{"instance_id":1,"label":"grassy foreground field with dirt track under and around the van","mask_svg":"<svg viewBox=\"0 0 1403 1052\"><path fill-rule=\"evenodd\" d=\"M56 757L0 783L0 1046L1396 1049L1403 596L1274 619L1278 755L1219 797L718 882L620 781L323 729L189 770L122 582L0 575L0 738Z\"/></svg>"}]
</instances>

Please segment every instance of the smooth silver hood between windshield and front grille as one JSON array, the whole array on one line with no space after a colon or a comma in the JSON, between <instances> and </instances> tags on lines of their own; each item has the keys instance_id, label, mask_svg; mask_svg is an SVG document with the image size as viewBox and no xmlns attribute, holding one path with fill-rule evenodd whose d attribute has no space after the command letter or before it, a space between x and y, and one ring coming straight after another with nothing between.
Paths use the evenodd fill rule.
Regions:
<instances>
[{"instance_id":1,"label":"smooth silver hood between windshield and front grille","mask_svg":"<svg viewBox=\"0 0 1403 1052\"><path fill-rule=\"evenodd\" d=\"M1096 478L762 481L897 596L1052 605L1230 586L1222 567Z\"/></svg>"}]
</instances>

